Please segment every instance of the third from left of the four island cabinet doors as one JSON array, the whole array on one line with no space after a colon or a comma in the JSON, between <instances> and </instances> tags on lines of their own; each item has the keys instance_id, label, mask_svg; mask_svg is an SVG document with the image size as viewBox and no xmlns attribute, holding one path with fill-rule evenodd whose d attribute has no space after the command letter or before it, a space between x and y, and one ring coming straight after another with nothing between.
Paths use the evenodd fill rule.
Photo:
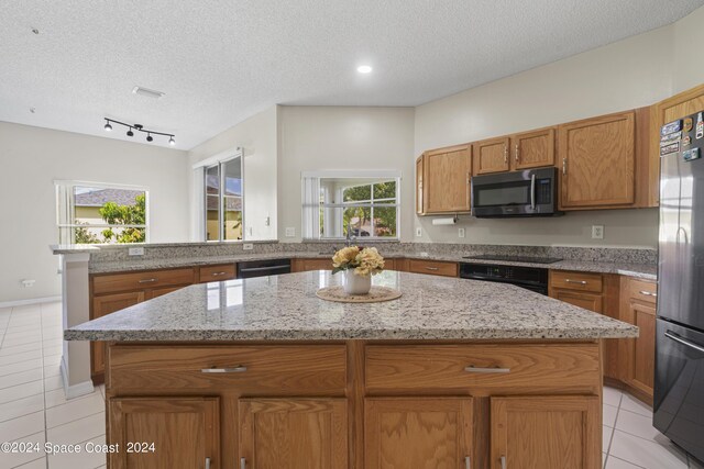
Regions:
<instances>
[{"instance_id":1,"label":"third from left of the four island cabinet doors","mask_svg":"<svg viewBox=\"0 0 704 469\"><path fill-rule=\"evenodd\" d=\"M472 416L472 398L365 399L364 467L470 467Z\"/></svg>"}]
</instances>

